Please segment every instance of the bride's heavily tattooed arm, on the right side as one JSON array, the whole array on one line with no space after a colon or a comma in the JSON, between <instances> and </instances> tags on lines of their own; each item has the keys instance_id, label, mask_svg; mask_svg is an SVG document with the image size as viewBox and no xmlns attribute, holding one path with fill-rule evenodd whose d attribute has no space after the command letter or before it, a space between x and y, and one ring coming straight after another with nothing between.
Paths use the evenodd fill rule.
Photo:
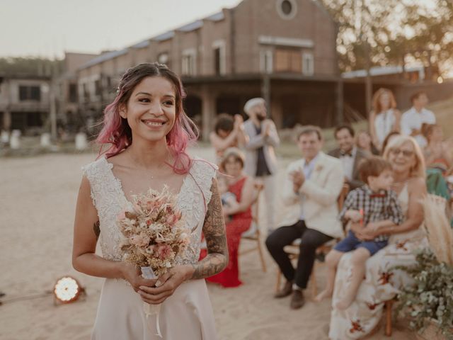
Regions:
<instances>
[{"instance_id":1,"label":"bride's heavily tattooed arm, on the right side","mask_svg":"<svg viewBox=\"0 0 453 340\"><path fill-rule=\"evenodd\" d=\"M207 256L193 265L195 269L192 278L207 278L220 273L228 263L228 247L226 246L225 221L222 212L217 180L212 180L212 197L207 205L203 233L207 245Z\"/></svg>"}]
</instances>

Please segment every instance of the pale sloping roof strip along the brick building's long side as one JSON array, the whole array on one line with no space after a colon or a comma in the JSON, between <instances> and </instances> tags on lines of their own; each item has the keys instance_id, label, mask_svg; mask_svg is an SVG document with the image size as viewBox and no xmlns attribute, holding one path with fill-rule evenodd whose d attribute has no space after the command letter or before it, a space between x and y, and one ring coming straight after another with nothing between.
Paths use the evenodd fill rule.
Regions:
<instances>
[{"instance_id":1,"label":"pale sloping roof strip along the brick building's long side","mask_svg":"<svg viewBox=\"0 0 453 340\"><path fill-rule=\"evenodd\" d=\"M197 30L198 28L201 28L203 26L203 21L204 20L217 22L217 21L222 21L224 18L225 18L224 12L223 11L219 11L219 12L214 13L214 14L212 14L210 16L207 16L206 18L203 18L201 20L196 20L196 21L193 21L191 23L188 23L188 24L185 24L183 26L180 26L179 28L176 28L175 30L187 33L187 32L191 32L193 30ZM82 64L81 67L79 67L79 69L86 69L87 67L91 67L91 66L99 64L101 62L105 62L105 61L113 59L115 57L119 57L120 55L125 55L130 48L144 48L144 47L148 47L150 40L154 40L154 41L160 42L160 41L165 41L165 40L171 39L171 38L173 38L175 36L175 30L168 30L168 31L166 31L164 33L161 33L159 35L155 35L154 37L151 37L151 38L149 38L147 40L143 40L141 42L138 42L135 45L132 45L130 47L126 47L126 48L124 48L122 50L119 50L119 51L112 51L112 52L104 53L103 55L95 57L92 60L90 60L89 62L86 62L85 64Z\"/></svg>"}]
</instances>

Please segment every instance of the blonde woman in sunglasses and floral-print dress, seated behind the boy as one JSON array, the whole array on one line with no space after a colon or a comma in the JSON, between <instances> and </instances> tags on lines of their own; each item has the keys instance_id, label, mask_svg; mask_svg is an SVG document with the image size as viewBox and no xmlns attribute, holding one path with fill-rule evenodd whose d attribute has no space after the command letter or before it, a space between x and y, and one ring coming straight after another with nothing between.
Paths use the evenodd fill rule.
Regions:
<instances>
[{"instance_id":1,"label":"blonde woman in sunglasses and floral-print dress, seated behind the boy","mask_svg":"<svg viewBox=\"0 0 453 340\"><path fill-rule=\"evenodd\" d=\"M360 285L355 301L346 310L333 307L329 339L360 339L369 334L382 317L384 302L391 300L402 285L410 285L406 273L392 271L399 265L415 262L413 251L428 246L423 229L421 200L426 195L425 163L417 142L412 137L396 136L384 151L384 159L391 164L393 190L398 195L406 220L401 225L386 225L386 221L365 226L352 224L352 231L361 239L373 239L388 234L389 245L367 261L365 280ZM379 223L379 225L377 225ZM332 306L345 294L352 268L351 253L345 254L336 273Z\"/></svg>"}]
</instances>

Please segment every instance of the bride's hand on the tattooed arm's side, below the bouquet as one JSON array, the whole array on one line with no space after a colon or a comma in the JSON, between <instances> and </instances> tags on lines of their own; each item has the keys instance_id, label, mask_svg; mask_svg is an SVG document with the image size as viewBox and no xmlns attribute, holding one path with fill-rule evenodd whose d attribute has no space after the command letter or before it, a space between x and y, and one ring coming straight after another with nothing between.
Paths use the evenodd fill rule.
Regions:
<instances>
[{"instance_id":1,"label":"bride's hand on the tattooed arm's side, below the bouquet","mask_svg":"<svg viewBox=\"0 0 453 340\"><path fill-rule=\"evenodd\" d=\"M143 285L139 287L138 293L144 302L151 305L159 305L167 297L173 295L181 283L190 279L193 271L192 266L175 266L157 280L156 288Z\"/></svg>"}]
</instances>

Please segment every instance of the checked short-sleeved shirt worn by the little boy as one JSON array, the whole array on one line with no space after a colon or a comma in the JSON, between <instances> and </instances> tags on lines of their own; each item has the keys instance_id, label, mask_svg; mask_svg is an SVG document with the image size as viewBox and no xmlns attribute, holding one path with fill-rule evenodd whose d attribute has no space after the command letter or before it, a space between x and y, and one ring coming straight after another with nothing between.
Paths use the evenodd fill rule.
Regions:
<instances>
[{"instance_id":1,"label":"checked short-sleeved shirt worn by the little boy","mask_svg":"<svg viewBox=\"0 0 453 340\"><path fill-rule=\"evenodd\" d=\"M369 222L391 220L396 225L404 222L404 215L398 203L398 196L394 191L382 190L374 193L369 186L361 186L352 190L345 200L343 210L340 212L340 220L345 220L347 210L362 210L363 225ZM373 239L374 242L386 241L388 234L379 235Z\"/></svg>"}]
</instances>

